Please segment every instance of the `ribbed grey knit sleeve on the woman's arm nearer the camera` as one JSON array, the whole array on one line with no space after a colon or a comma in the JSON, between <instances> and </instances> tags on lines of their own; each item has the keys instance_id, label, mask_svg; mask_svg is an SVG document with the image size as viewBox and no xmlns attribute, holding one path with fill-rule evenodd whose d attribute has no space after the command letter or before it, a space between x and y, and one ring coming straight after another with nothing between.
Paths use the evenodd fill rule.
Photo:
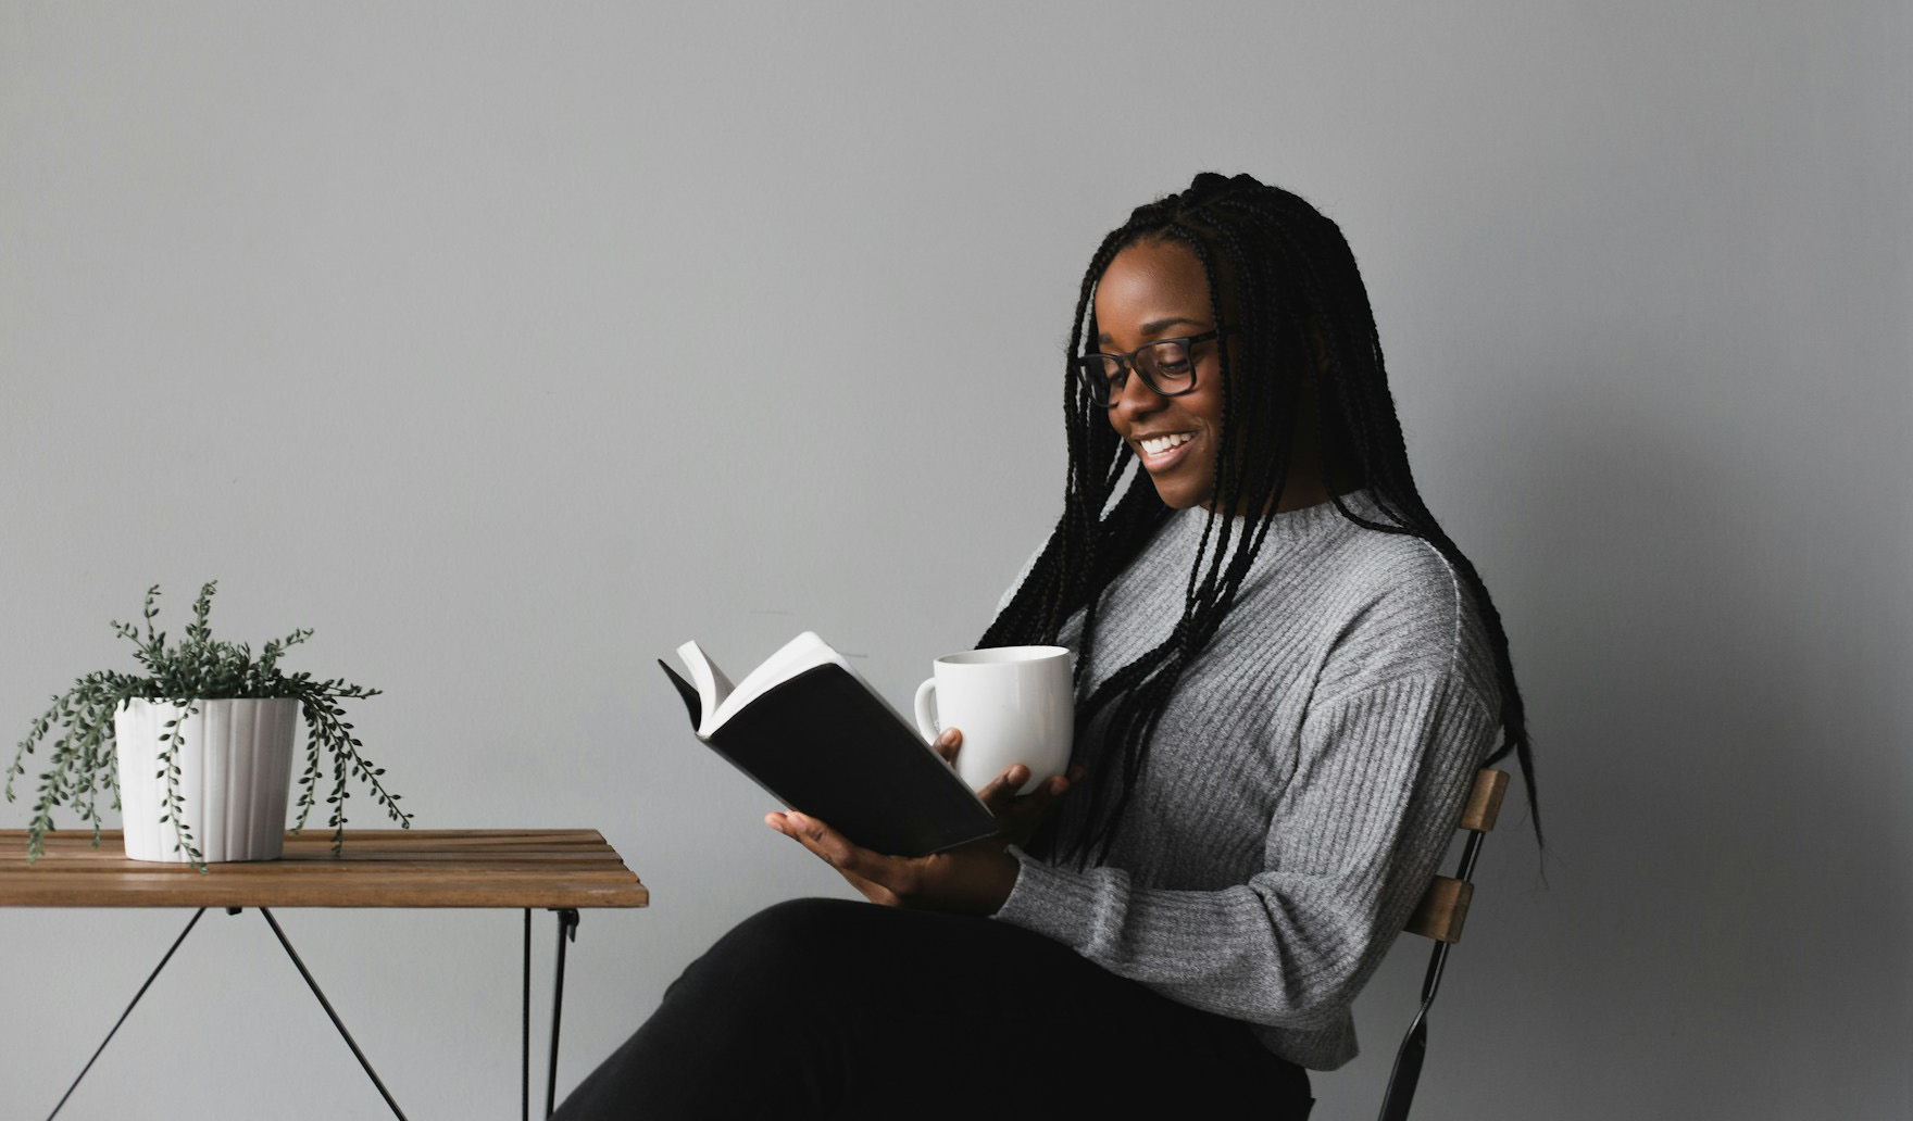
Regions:
<instances>
[{"instance_id":1,"label":"ribbed grey knit sleeve on the woman's arm nearer the camera","mask_svg":"<svg viewBox=\"0 0 1913 1121\"><path fill-rule=\"evenodd\" d=\"M1150 890L1121 868L1077 872L1020 853L997 916L1182 1004L1330 1027L1414 911L1494 729L1481 700L1448 677L1366 689L1310 714L1266 867L1245 884ZM1347 1056L1307 1058L1333 1066Z\"/></svg>"}]
</instances>

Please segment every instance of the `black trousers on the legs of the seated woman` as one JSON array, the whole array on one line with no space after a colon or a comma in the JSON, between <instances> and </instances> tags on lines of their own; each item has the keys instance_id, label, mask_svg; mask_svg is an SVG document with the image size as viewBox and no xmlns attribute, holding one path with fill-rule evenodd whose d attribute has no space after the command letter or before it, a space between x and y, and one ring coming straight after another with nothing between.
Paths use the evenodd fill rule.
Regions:
<instances>
[{"instance_id":1,"label":"black trousers on the legs of the seated woman","mask_svg":"<svg viewBox=\"0 0 1913 1121\"><path fill-rule=\"evenodd\" d=\"M559 1110L624 1117L1307 1117L1308 1073L1027 930L779 903L691 964Z\"/></svg>"}]
</instances>

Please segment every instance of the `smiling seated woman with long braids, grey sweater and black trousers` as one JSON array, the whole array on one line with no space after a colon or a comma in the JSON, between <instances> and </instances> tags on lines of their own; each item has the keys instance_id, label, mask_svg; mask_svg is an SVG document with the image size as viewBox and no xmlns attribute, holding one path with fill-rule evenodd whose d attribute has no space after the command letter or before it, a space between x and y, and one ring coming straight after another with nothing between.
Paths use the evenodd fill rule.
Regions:
<instances>
[{"instance_id":1,"label":"smiling seated woman with long braids, grey sweater and black trousers","mask_svg":"<svg viewBox=\"0 0 1913 1121\"><path fill-rule=\"evenodd\" d=\"M886 907L744 922L561 1117L1305 1117L1475 769L1515 752L1532 802L1333 222L1199 174L1104 239L1069 354L1066 509L981 645L1077 650L1077 767L1027 798L1012 767L1004 832L924 859L769 815Z\"/></svg>"}]
</instances>

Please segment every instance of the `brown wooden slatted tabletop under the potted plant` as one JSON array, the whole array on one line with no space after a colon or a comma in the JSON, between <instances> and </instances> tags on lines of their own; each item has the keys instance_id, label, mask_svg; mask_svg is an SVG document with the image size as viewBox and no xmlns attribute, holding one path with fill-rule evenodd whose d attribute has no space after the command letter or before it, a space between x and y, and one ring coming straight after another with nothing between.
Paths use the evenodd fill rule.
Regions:
<instances>
[{"instance_id":1,"label":"brown wooden slatted tabletop under the potted plant","mask_svg":"<svg viewBox=\"0 0 1913 1121\"><path fill-rule=\"evenodd\" d=\"M0 830L0 907L645 907L650 891L593 828L350 828L285 834L277 861L128 861L119 830Z\"/></svg>"}]
</instances>

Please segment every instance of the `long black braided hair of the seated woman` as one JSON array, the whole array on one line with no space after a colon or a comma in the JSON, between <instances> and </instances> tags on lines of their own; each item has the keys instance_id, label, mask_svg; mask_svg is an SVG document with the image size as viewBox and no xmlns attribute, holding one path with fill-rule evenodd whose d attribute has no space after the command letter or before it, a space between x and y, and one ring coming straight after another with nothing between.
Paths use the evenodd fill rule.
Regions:
<instances>
[{"instance_id":1,"label":"long black braided hair of the seated woman","mask_svg":"<svg viewBox=\"0 0 1913 1121\"><path fill-rule=\"evenodd\" d=\"M1507 633L1494 601L1462 549L1421 501L1395 415L1381 362L1381 341L1368 291L1341 230L1314 207L1238 174L1201 172L1188 189L1138 207L1104 237L1083 274L1069 356L1096 339L1094 291L1117 253L1142 241L1176 241L1201 262L1215 323L1236 325L1236 346L1219 346L1222 425L1217 478L1196 562L1190 566L1182 618L1169 637L1110 673L1077 706L1077 729L1108 710L1108 725L1090 742L1081 736L1077 761L1090 773L1083 828L1056 838L1056 817L1033 846L1056 847L1079 865L1108 857L1129 794L1148 763L1150 738L1182 675L1217 633L1249 574L1276 517L1295 453L1295 407L1314 402L1314 446L1326 484L1347 478L1368 486L1381 520L1356 515L1333 494L1349 520L1385 534L1410 534L1433 545L1460 574L1494 648L1502 692L1502 744L1521 761L1534 836L1540 807L1521 691L1507 656ZM1232 312L1224 318L1224 306ZM1242 365L1238 377L1234 365ZM1077 675L1090 660L1104 587L1169 518L1150 476L1136 471L1115 495L1134 453L1110 427L1108 409L1090 400L1073 373L1064 381L1069 473L1064 513L1048 543L978 645L1056 643L1069 616L1083 612ZM1113 501L1111 501L1113 497ZM1261 511L1240 520L1236 511ZM1079 794L1081 796L1081 794Z\"/></svg>"}]
</instances>

